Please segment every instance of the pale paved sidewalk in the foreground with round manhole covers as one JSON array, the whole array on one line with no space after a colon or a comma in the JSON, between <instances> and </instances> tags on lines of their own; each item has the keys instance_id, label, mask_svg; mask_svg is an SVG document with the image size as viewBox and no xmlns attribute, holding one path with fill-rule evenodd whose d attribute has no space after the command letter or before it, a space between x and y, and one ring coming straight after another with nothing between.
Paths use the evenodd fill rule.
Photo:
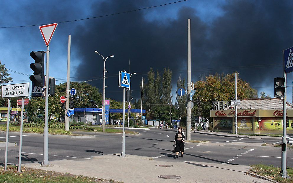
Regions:
<instances>
[{"instance_id":1,"label":"pale paved sidewalk in the foreground with round manhole covers","mask_svg":"<svg viewBox=\"0 0 293 183\"><path fill-rule=\"evenodd\" d=\"M269 182L246 175L249 166L195 161L172 163L173 157L170 157L171 162L165 162L151 160L146 156L127 155L128 157L122 158L119 155L117 153L94 156L92 159L84 161L67 159L50 161L51 166L48 167L42 167L39 163L28 163L23 166L122 182ZM163 179L158 177L160 175L173 175L181 178Z\"/></svg>"}]
</instances>

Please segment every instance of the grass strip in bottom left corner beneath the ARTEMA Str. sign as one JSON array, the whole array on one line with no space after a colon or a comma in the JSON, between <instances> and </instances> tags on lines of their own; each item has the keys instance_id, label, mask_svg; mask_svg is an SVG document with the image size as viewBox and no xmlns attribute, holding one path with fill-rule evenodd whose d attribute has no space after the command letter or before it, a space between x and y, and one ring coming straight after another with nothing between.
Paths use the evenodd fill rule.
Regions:
<instances>
[{"instance_id":1,"label":"grass strip in bottom left corner beneath the ARTEMA Str. sign","mask_svg":"<svg viewBox=\"0 0 293 183\"><path fill-rule=\"evenodd\" d=\"M66 182L66 183L74 183L74 182L113 182L113 183L121 183L114 181L113 179L105 180L99 179L95 177L84 177L82 175L76 176L69 173L58 173L54 171L46 171L32 168L21 168L21 172L17 172L17 168L15 166L7 166L7 171L4 171L4 168L0 168L0 182Z\"/></svg>"}]
</instances>

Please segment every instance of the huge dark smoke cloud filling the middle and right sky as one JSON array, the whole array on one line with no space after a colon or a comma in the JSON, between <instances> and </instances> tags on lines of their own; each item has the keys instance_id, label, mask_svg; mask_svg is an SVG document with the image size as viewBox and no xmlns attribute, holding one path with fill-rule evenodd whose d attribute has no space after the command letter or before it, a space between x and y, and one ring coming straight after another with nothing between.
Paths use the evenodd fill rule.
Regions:
<instances>
[{"instance_id":1,"label":"huge dark smoke cloud filling the middle and right sky","mask_svg":"<svg viewBox=\"0 0 293 183\"><path fill-rule=\"evenodd\" d=\"M109 14L152 6L149 1L105 1L94 4L92 13ZM195 9L182 7L175 19L149 20L148 10L96 19L74 33L81 63L76 76L99 78L104 57L106 62L106 96L122 100L118 88L118 71L137 75L131 77L134 97L140 98L139 83L150 67L173 71L172 82L181 74L186 77L187 19L191 19L192 78L210 73L240 72L240 77L252 86L271 85L273 77L281 76L282 67L243 68L243 66L276 64L282 61L281 51L292 45L292 3L289 1L229 1L224 14L206 23ZM160 7L167 11L168 7ZM170 12L169 12L170 13ZM175 16L173 16L175 17ZM129 70L129 60L131 63ZM230 68L237 67L237 68ZM95 76L95 77L93 77ZM81 79L82 80L82 79ZM102 89L102 79L90 84ZM173 88L174 89L174 88Z\"/></svg>"}]
</instances>

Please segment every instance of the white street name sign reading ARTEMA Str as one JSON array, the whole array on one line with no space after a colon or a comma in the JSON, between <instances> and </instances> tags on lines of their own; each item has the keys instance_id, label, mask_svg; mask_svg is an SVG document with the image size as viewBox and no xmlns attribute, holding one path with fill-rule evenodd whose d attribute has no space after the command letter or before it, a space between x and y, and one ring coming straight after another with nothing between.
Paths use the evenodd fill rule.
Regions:
<instances>
[{"instance_id":1,"label":"white street name sign reading ARTEMA Str","mask_svg":"<svg viewBox=\"0 0 293 183\"><path fill-rule=\"evenodd\" d=\"M28 97L30 84L10 84L2 86L2 98Z\"/></svg>"}]
</instances>

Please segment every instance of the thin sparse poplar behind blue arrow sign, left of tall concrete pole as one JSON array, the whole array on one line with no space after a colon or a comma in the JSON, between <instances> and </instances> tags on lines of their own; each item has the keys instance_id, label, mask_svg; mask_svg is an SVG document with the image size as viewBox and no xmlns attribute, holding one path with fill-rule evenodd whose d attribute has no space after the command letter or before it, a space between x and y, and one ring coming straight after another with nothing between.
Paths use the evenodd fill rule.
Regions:
<instances>
[{"instance_id":1,"label":"thin sparse poplar behind blue arrow sign, left of tall concrete pole","mask_svg":"<svg viewBox=\"0 0 293 183\"><path fill-rule=\"evenodd\" d=\"M181 75L180 75L177 80L177 90L179 88L184 88L184 87L185 87L185 78L181 79ZM186 95L183 95L183 96L178 95L177 90L176 90L176 100L177 100L176 108L179 112L179 117L181 120L181 118L186 115L186 110L185 110Z\"/></svg>"}]
</instances>

